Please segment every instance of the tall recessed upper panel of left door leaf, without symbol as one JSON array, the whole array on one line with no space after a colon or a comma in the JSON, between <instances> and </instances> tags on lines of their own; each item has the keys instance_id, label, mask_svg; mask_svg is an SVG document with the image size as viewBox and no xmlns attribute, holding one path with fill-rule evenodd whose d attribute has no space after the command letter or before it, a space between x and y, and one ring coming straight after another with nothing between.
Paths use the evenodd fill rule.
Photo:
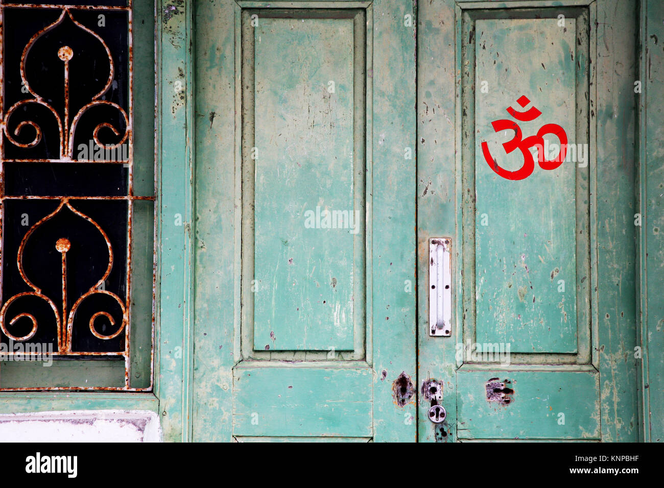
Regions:
<instances>
[{"instance_id":1,"label":"tall recessed upper panel of left door leaf, without symbol","mask_svg":"<svg viewBox=\"0 0 664 488\"><path fill-rule=\"evenodd\" d=\"M250 26L258 153L254 349L353 351L354 320L363 321L354 304L363 308L365 237L364 151L353 153L365 125L363 98L354 106L363 70L354 86L353 67L363 66L364 56L354 59L353 41L355 17L365 22L360 11L307 13L260 13L258 26Z\"/></svg>"}]
</instances>

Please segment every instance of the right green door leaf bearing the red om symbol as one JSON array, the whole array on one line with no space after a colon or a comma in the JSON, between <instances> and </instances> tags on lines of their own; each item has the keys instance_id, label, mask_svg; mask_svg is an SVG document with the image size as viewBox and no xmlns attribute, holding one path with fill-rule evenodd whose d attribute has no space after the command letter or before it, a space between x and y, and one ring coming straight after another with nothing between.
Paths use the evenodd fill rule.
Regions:
<instances>
[{"instance_id":1,"label":"right green door leaf bearing the red om symbol","mask_svg":"<svg viewBox=\"0 0 664 488\"><path fill-rule=\"evenodd\" d=\"M626 0L420 3L420 440L637 438L636 19ZM429 333L432 238L450 337Z\"/></svg>"}]
</instances>

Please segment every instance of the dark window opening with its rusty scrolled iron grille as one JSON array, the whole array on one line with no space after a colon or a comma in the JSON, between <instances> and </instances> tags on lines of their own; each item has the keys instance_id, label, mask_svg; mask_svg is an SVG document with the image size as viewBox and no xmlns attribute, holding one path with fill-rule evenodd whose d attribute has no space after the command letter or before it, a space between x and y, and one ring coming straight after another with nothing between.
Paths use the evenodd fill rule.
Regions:
<instances>
[{"instance_id":1,"label":"dark window opening with its rusty scrolled iron grille","mask_svg":"<svg viewBox=\"0 0 664 488\"><path fill-rule=\"evenodd\" d=\"M133 195L131 0L0 0L0 79L0 360L125 365L124 387L11 389L150 389L130 387L133 203L154 200Z\"/></svg>"}]
</instances>

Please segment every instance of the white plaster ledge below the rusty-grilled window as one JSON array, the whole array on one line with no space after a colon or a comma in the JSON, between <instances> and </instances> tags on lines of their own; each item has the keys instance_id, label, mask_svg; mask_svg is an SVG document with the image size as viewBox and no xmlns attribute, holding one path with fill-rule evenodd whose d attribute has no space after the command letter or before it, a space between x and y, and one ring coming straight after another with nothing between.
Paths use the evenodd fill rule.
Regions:
<instances>
[{"instance_id":1,"label":"white plaster ledge below the rusty-grilled window","mask_svg":"<svg viewBox=\"0 0 664 488\"><path fill-rule=\"evenodd\" d=\"M0 414L0 442L161 442L161 426L137 410Z\"/></svg>"}]
</instances>

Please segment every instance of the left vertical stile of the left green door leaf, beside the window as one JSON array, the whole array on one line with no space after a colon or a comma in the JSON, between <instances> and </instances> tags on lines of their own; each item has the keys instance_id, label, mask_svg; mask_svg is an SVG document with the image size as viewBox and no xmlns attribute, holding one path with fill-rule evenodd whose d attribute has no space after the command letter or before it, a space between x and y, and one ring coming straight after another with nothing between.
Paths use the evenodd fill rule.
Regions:
<instances>
[{"instance_id":1,"label":"left vertical stile of the left green door leaf, beside the window","mask_svg":"<svg viewBox=\"0 0 664 488\"><path fill-rule=\"evenodd\" d=\"M236 100L234 1L197 1L196 57L196 242L193 431L196 442L232 441L232 367L240 357L234 321L241 264L236 250L240 160L240 100ZM236 123L238 129L236 130ZM237 137L237 139L236 139ZM203 272L205 270L205 272Z\"/></svg>"}]
</instances>

